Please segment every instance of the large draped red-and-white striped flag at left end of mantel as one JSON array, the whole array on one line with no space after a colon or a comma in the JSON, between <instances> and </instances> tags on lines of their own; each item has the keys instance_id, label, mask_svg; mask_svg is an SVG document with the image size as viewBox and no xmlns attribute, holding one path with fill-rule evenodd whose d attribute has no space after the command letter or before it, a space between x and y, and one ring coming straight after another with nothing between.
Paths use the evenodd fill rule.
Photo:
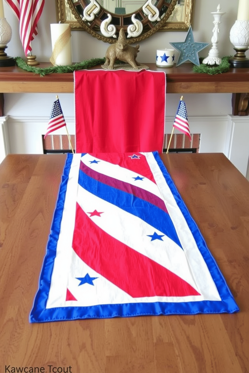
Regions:
<instances>
[{"instance_id":1,"label":"large draped red-and-white striped flag at left end of mantel","mask_svg":"<svg viewBox=\"0 0 249 373\"><path fill-rule=\"evenodd\" d=\"M25 56L32 50L31 40L37 35L37 23L45 0L6 0L20 21L19 33Z\"/></svg>"}]
</instances>

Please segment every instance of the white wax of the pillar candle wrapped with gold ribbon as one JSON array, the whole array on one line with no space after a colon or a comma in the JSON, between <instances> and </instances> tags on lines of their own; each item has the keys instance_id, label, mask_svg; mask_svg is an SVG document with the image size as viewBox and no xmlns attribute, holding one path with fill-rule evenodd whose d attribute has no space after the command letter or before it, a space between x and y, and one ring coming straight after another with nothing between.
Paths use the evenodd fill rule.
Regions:
<instances>
[{"instance_id":1,"label":"white wax of the pillar candle wrapped with gold ribbon","mask_svg":"<svg viewBox=\"0 0 249 373\"><path fill-rule=\"evenodd\" d=\"M66 31L70 26L67 23L52 23L50 25L51 30L51 41L52 50L54 50L56 40ZM58 54L55 60L56 66L65 66L72 64L72 53L71 53L71 38L63 46L62 50Z\"/></svg>"}]
</instances>

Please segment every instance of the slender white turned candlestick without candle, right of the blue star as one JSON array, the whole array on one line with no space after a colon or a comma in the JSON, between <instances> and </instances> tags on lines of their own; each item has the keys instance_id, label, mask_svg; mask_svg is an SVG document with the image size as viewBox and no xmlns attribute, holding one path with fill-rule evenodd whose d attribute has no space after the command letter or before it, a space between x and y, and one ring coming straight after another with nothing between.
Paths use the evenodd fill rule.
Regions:
<instances>
[{"instance_id":1,"label":"slender white turned candlestick without candle, right of the blue star","mask_svg":"<svg viewBox=\"0 0 249 373\"><path fill-rule=\"evenodd\" d=\"M205 65L220 65L221 59L219 57L219 51L218 51L218 33L219 30L219 24L221 20L221 16L225 13L222 13L220 4L217 6L217 12L211 12L211 14L214 16L214 28L213 28L213 36L211 39L212 42L212 48L210 49L208 53L208 57L206 57L202 63Z\"/></svg>"}]
</instances>

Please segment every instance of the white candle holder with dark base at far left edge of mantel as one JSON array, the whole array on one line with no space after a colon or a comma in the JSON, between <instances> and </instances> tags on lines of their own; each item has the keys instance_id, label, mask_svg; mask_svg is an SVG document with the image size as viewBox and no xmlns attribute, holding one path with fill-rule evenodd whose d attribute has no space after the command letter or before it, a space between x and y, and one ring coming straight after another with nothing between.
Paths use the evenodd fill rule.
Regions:
<instances>
[{"instance_id":1,"label":"white candle holder with dark base at far left edge of mantel","mask_svg":"<svg viewBox=\"0 0 249 373\"><path fill-rule=\"evenodd\" d=\"M3 0L0 0L0 67L15 66L15 60L4 52L11 36L12 29L4 18Z\"/></svg>"}]
</instances>

